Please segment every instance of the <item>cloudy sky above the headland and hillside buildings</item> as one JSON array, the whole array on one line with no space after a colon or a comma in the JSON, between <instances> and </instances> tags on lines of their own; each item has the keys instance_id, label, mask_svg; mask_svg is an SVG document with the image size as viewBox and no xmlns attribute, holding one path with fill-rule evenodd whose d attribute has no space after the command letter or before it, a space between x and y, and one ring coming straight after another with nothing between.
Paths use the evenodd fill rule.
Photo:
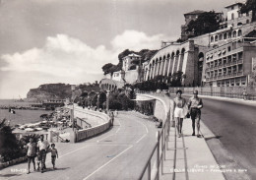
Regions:
<instances>
[{"instance_id":1,"label":"cloudy sky above the headland and hillside buildings","mask_svg":"<svg viewBox=\"0 0 256 180\"><path fill-rule=\"evenodd\" d=\"M176 40L184 13L234 0L0 0L0 98L42 84L94 83L125 49Z\"/></svg>"}]
</instances>

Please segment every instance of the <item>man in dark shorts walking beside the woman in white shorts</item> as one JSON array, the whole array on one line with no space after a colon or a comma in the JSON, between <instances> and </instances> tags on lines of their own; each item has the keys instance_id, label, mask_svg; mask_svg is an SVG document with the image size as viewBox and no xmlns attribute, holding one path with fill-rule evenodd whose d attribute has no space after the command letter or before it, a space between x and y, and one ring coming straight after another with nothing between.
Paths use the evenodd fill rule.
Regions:
<instances>
[{"instance_id":1,"label":"man in dark shorts walking beside the woman in white shorts","mask_svg":"<svg viewBox=\"0 0 256 180\"><path fill-rule=\"evenodd\" d=\"M200 120L201 120L201 108L203 108L203 101L198 97L198 90L193 91L193 96L189 98L188 108L192 119L192 129L195 136L195 124L197 125L197 137L200 138Z\"/></svg>"}]
</instances>

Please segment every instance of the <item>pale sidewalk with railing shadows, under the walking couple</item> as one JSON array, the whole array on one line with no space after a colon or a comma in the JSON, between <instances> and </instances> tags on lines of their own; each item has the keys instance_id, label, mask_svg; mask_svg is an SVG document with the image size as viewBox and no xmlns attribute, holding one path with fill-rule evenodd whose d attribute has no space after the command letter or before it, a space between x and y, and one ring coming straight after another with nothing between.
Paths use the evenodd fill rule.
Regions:
<instances>
[{"instance_id":1,"label":"pale sidewalk with railing shadows, under the walking couple","mask_svg":"<svg viewBox=\"0 0 256 180\"><path fill-rule=\"evenodd\" d=\"M212 136L201 122L202 135ZM170 128L169 141L163 161L161 180L224 180L205 139L192 136L191 119L183 120L183 136L178 138L175 129Z\"/></svg>"}]
</instances>

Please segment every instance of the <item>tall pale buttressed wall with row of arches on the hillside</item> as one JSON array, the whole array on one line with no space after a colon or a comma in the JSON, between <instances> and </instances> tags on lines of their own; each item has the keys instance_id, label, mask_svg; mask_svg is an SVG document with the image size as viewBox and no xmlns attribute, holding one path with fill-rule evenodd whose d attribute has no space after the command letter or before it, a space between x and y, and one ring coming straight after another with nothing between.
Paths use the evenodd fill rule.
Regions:
<instances>
[{"instance_id":1,"label":"tall pale buttressed wall with row of arches on the hillside","mask_svg":"<svg viewBox=\"0 0 256 180\"><path fill-rule=\"evenodd\" d=\"M201 62L203 59L200 57L202 53L205 53L205 48L194 44L193 39L182 43L169 43L163 46L150 61L144 63L144 81L182 72L185 75L182 85L200 84L202 76L200 68L203 68Z\"/></svg>"}]
</instances>

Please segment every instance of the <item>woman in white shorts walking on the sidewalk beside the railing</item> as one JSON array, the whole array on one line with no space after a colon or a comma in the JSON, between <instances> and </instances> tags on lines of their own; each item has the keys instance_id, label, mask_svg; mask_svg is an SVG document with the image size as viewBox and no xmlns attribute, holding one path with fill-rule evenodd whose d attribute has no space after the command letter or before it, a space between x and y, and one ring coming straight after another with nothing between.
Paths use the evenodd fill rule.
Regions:
<instances>
[{"instance_id":1,"label":"woman in white shorts walking on the sidewalk beside the railing","mask_svg":"<svg viewBox=\"0 0 256 180\"><path fill-rule=\"evenodd\" d=\"M178 138L181 136L183 118L186 115L186 99L181 97L182 90L176 91L176 97L173 99L173 116L175 119L176 128L178 131Z\"/></svg>"}]
</instances>

